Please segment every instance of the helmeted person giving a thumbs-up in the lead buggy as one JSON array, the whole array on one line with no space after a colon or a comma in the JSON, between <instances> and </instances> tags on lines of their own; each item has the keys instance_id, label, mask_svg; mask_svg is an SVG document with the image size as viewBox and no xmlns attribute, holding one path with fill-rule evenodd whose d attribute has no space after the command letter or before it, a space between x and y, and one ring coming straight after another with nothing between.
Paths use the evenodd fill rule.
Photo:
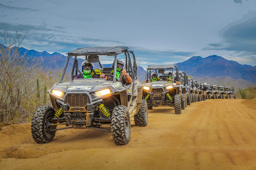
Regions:
<instances>
[{"instance_id":1,"label":"helmeted person giving a thumbs-up in the lead buggy","mask_svg":"<svg viewBox=\"0 0 256 170\"><path fill-rule=\"evenodd\" d=\"M112 64L112 71L110 72L113 75L114 72L114 62ZM100 75L100 78L104 78L106 80L110 80L113 78L112 76L105 75L104 73ZM117 59L116 61L116 79L122 83L122 85L127 85L132 83L132 78L127 74L124 69L124 62L121 59Z\"/></svg>"}]
</instances>

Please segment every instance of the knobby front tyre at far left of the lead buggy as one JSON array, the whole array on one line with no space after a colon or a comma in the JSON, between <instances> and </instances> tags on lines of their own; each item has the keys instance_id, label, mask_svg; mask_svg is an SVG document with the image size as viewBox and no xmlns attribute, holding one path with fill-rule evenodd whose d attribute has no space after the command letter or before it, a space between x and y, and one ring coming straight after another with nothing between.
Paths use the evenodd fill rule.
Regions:
<instances>
[{"instance_id":1,"label":"knobby front tyre at far left of the lead buggy","mask_svg":"<svg viewBox=\"0 0 256 170\"><path fill-rule=\"evenodd\" d=\"M51 125L49 123L50 118L54 118L55 110L49 106L44 105L38 107L33 113L31 120L31 133L35 142L48 143L51 142L55 136L57 125Z\"/></svg>"}]
</instances>

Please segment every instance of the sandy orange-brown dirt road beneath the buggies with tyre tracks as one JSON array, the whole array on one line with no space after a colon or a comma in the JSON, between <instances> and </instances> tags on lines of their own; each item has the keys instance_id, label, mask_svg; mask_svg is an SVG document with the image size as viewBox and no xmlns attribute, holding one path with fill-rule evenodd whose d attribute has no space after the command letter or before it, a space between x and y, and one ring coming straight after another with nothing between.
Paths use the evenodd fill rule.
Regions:
<instances>
[{"instance_id":1,"label":"sandy orange-brown dirt road beneath the buggies with tyre tracks","mask_svg":"<svg viewBox=\"0 0 256 170\"><path fill-rule=\"evenodd\" d=\"M192 103L175 115L170 107L149 110L146 127L132 121L128 145L110 132L57 131L37 144L30 124L0 131L0 169L256 169L256 104L243 99Z\"/></svg>"}]
</instances>

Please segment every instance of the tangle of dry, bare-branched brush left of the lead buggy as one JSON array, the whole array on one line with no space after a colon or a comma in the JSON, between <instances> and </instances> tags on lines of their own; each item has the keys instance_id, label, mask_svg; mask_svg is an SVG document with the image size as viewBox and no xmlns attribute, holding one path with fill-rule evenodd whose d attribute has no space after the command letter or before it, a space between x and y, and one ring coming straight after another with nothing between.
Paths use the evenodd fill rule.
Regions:
<instances>
[{"instance_id":1,"label":"tangle of dry, bare-branched brush left of the lead buggy","mask_svg":"<svg viewBox=\"0 0 256 170\"><path fill-rule=\"evenodd\" d=\"M43 98L36 97L37 79L40 79L40 96L43 96L44 87L50 88L56 83L60 71L46 71L29 56L19 55L18 49L26 36L16 32L12 38L6 31L1 35L4 42L0 46L0 123L27 122L43 104Z\"/></svg>"}]
</instances>

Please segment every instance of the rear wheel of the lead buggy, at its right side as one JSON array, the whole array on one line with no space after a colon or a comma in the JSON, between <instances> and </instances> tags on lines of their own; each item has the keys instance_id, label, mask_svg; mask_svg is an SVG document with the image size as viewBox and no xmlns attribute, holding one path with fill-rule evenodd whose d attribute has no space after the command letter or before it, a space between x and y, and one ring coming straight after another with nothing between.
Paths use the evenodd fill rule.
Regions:
<instances>
[{"instance_id":1,"label":"rear wheel of the lead buggy, at its right side","mask_svg":"<svg viewBox=\"0 0 256 170\"><path fill-rule=\"evenodd\" d=\"M142 99L142 105L136 115L134 115L134 123L136 126L147 126L148 125L148 106L147 102Z\"/></svg>"}]
</instances>

